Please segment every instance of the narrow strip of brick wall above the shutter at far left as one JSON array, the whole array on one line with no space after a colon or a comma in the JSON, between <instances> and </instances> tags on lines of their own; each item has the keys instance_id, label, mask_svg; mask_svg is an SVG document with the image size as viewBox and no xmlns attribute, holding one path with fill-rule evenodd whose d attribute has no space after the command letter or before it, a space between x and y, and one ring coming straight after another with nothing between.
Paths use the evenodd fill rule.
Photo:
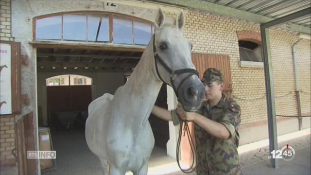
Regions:
<instances>
[{"instance_id":1,"label":"narrow strip of brick wall above the shutter at far left","mask_svg":"<svg viewBox=\"0 0 311 175\"><path fill-rule=\"evenodd\" d=\"M11 37L11 0L0 1L0 40L13 41Z\"/></svg>"}]
</instances>

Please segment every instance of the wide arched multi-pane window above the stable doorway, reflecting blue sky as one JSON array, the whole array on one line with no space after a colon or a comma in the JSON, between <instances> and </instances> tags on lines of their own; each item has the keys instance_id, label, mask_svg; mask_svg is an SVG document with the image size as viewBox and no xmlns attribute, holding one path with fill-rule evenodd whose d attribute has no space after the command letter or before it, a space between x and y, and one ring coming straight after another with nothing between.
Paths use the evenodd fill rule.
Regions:
<instances>
[{"instance_id":1,"label":"wide arched multi-pane window above the stable doorway, reflecting blue sky","mask_svg":"<svg viewBox=\"0 0 311 175\"><path fill-rule=\"evenodd\" d=\"M114 13L75 13L35 19L34 32L37 40L147 45L154 26L143 19L125 18Z\"/></svg>"}]
</instances>

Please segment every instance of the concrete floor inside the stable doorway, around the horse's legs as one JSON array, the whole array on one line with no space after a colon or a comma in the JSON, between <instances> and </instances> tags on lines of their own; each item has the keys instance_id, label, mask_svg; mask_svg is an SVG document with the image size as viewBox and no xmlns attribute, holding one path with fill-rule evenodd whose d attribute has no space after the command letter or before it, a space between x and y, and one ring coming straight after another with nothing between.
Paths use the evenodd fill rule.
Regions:
<instances>
[{"instance_id":1,"label":"concrete floor inside the stable doorway, around the horse's legs","mask_svg":"<svg viewBox=\"0 0 311 175\"><path fill-rule=\"evenodd\" d=\"M52 131L51 135L57 168L44 171L42 175L103 175L98 158L87 147L84 131ZM159 147L154 148L148 167L150 175L184 174L176 160Z\"/></svg>"}]
</instances>

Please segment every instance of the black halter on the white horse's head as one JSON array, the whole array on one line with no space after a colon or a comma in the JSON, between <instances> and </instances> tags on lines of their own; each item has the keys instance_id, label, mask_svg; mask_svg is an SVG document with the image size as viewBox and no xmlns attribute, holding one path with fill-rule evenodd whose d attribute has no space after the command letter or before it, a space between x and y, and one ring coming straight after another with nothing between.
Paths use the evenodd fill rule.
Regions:
<instances>
[{"instance_id":1,"label":"black halter on the white horse's head","mask_svg":"<svg viewBox=\"0 0 311 175\"><path fill-rule=\"evenodd\" d=\"M155 48L155 34L154 34L154 54L155 54L155 70L157 73L157 76L162 80L163 83L167 84L162 77L159 74L159 70L157 68L157 62L156 60L159 61L159 63L164 67L164 69L166 69L169 73L170 73L170 80L171 80L171 84L172 84L172 88L174 89L175 95L178 99L178 90L181 87L181 85L187 80L187 78L189 78L190 76L192 76L193 74L196 74L197 76L199 76L199 72L195 69L180 69L180 70L172 70L162 59L161 57L157 54L156 48ZM182 81L179 83L178 87L176 88L174 86L174 80L175 78L178 76L178 74L182 74L182 73L190 73L188 76L186 76L184 79L182 79Z\"/></svg>"}]
</instances>

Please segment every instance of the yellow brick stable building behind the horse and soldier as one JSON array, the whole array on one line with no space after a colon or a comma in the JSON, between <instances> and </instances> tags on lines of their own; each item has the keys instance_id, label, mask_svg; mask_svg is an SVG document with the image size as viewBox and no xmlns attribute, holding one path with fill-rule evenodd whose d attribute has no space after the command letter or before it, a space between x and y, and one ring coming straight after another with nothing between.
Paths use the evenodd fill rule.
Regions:
<instances>
[{"instance_id":1,"label":"yellow brick stable building behind the horse and soldier","mask_svg":"<svg viewBox=\"0 0 311 175\"><path fill-rule=\"evenodd\" d=\"M224 93L242 109L240 145L267 139L259 25L311 7L310 0L0 3L0 160L1 169L15 174L43 171L38 159L27 159L27 151L40 148L41 127L50 129L51 149L56 149L58 157L68 154L65 159L70 161L92 155L74 157L66 150L88 149L84 140L87 106L124 85L154 34L158 7L168 22L184 10L184 35L193 45L192 62L200 76L207 68L223 71ZM311 127L310 33L310 14L269 29L278 135ZM163 85L156 105L173 109L177 103L173 89ZM155 151L176 157L179 127L152 115L149 122ZM185 138L182 142L181 159L187 164L190 148Z\"/></svg>"}]
</instances>

